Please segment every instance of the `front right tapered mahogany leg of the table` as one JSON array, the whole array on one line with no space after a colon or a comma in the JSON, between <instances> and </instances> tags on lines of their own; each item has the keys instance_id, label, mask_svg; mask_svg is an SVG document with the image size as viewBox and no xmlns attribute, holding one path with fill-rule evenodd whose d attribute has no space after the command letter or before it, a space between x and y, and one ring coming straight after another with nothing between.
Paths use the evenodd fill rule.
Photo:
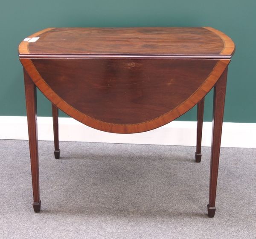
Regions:
<instances>
[{"instance_id":1,"label":"front right tapered mahogany leg of the table","mask_svg":"<svg viewBox=\"0 0 256 239\"><path fill-rule=\"evenodd\" d=\"M221 148L221 132L224 115L224 103L227 84L227 68L221 75L221 78L214 86L213 100L213 118L212 118L212 150L211 150L211 166L210 166L210 186L209 186L209 204L208 216L214 217L215 199L218 179L218 164Z\"/></svg>"}]
</instances>

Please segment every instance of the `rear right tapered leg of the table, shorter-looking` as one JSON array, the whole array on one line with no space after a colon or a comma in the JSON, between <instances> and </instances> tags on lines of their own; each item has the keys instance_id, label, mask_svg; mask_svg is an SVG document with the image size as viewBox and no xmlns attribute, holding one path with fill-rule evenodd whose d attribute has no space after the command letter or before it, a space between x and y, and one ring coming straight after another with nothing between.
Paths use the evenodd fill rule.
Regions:
<instances>
[{"instance_id":1,"label":"rear right tapered leg of the table, shorter-looking","mask_svg":"<svg viewBox=\"0 0 256 239\"><path fill-rule=\"evenodd\" d=\"M203 119L204 119L204 98L198 102L197 106L197 137L196 137L196 152L195 161L201 162L201 143L202 143L202 130L203 130Z\"/></svg>"}]
</instances>

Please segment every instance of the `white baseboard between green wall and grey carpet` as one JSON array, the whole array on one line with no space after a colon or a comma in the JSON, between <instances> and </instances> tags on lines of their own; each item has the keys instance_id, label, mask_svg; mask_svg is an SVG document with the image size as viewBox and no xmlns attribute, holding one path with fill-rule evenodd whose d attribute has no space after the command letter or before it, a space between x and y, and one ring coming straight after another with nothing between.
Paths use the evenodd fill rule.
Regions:
<instances>
[{"instance_id":1,"label":"white baseboard between green wall and grey carpet","mask_svg":"<svg viewBox=\"0 0 256 239\"><path fill-rule=\"evenodd\" d=\"M23 116L0 116L0 139L28 139ZM212 123L204 122L202 146L211 146ZM137 134L114 134L95 130L74 120L59 118L60 141L125 144L196 144L196 122L173 121L155 130ZM38 140L53 140L52 118L38 117ZM256 123L224 123L221 147L256 148Z\"/></svg>"}]
</instances>

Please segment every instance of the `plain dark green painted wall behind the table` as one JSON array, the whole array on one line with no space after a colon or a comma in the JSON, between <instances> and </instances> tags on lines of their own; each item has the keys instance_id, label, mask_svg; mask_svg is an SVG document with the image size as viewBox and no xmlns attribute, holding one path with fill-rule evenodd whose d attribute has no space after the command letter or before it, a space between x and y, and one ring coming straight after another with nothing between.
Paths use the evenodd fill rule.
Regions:
<instances>
[{"instance_id":1,"label":"plain dark green painted wall behind the table","mask_svg":"<svg viewBox=\"0 0 256 239\"><path fill-rule=\"evenodd\" d=\"M0 5L0 115L26 115L17 46L47 27L212 26L236 43L229 66L224 121L256 122L255 0L10 0ZM51 106L38 93L38 115ZM64 116L64 114L61 114ZM195 121L196 111L179 120ZM212 118L212 92L205 120Z\"/></svg>"}]
</instances>

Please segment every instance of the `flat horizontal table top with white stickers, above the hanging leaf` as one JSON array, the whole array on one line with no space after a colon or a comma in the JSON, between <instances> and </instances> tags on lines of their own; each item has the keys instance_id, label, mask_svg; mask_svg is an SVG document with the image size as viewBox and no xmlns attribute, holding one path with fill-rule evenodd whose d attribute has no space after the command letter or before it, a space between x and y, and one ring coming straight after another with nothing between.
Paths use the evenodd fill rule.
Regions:
<instances>
[{"instance_id":1,"label":"flat horizontal table top with white stickers, above the hanging leaf","mask_svg":"<svg viewBox=\"0 0 256 239\"><path fill-rule=\"evenodd\" d=\"M20 58L229 59L234 50L230 37L210 27L48 28L27 37L19 46Z\"/></svg>"}]
</instances>

